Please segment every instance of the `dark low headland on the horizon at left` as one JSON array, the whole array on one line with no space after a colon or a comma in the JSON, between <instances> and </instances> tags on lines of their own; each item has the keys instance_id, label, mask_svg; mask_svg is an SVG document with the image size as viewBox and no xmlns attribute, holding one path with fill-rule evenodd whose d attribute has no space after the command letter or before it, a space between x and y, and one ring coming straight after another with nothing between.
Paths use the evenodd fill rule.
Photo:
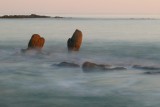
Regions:
<instances>
[{"instance_id":1,"label":"dark low headland on the horizon at left","mask_svg":"<svg viewBox=\"0 0 160 107\"><path fill-rule=\"evenodd\" d=\"M37 15L37 14L31 14L31 15L4 15L0 16L0 18L9 19L9 18L64 18L60 16L45 16L45 15Z\"/></svg>"}]
</instances>

